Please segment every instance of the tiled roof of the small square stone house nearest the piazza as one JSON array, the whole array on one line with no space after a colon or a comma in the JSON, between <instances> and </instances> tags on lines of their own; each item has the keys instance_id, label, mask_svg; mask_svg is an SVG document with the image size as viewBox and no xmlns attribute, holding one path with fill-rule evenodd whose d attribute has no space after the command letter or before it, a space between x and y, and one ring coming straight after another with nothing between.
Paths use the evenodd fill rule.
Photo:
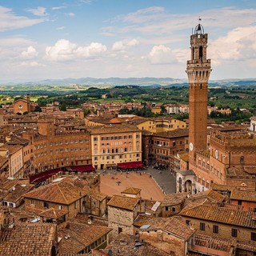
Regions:
<instances>
[{"instance_id":1,"label":"tiled roof of the small square stone house nearest the piazza","mask_svg":"<svg viewBox=\"0 0 256 256\"><path fill-rule=\"evenodd\" d=\"M134 210L134 207L138 204L139 200L139 198L130 198L121 195L114 195L107 205L125 210Z\"/></svg>"}]
</instances>

